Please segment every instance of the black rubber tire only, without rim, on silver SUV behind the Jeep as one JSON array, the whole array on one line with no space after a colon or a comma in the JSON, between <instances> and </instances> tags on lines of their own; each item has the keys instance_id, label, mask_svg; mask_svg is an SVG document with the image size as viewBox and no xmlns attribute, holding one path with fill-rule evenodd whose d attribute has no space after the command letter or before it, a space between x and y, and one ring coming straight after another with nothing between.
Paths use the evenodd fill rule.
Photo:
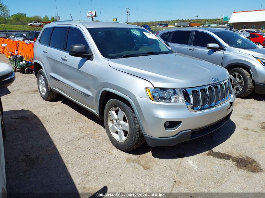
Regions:
<instances>
[{"instance_id":1,"label":"black rubber tire only, without rim, on silver SUV behind the Jeep","mask_svg":"<svg viewBox=\"0 0 265 198\"><path fill-rule=\"evenodd\" d=\"M236 97L242 98L242 97L246 97L250 95L254 89L254 85L253 85L253 81L252 81L250 73L248 73L245 69L242 69L242 68L234 68L229 71L230 79L231 79L231 74L235 74L235 73L238 73L242 76L243 83L244 83L243 89L239 91L238 93L235 93ZM231 80L231 84L232 84L232 80ZM232 84L232 87L233 87L233 84Z\"/></svg>"}]
</instances>

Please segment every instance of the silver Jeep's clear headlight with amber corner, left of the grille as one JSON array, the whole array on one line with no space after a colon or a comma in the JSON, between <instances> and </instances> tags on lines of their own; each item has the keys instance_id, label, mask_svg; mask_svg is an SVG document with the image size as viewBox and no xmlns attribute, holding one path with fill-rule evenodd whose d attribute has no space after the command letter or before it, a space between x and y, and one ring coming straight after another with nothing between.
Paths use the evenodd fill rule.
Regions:
<instances>
[{"instance_id":1,"label":"silver Jeep's clear headlight with amber corner, left of the grille","mask_svg":"<svg viewBox=\"0 0 265 198\"><path fill-rule=\"evenodd\" d=\"M184 102L181 89L174 88L146 88L149 98L157 102Z\"/></svg>"}]
</instances>

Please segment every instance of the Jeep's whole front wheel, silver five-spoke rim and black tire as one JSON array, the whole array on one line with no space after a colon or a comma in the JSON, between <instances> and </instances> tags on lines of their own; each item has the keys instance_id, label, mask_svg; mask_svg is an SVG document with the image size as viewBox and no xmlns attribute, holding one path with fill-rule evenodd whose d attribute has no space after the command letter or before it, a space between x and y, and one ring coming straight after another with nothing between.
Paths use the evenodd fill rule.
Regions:
<instances>
[{"instance_id":1,"label":"Jeep's whole front wheel, silver five-spoke rim and black tire","mask_svg":"<svg viewBox=\"0 0 265 198\"><path fill-rule=\"evenodd\" d=\"M134 111L120 100L110 99L107 102L104 125L109 140L119 150L133 150L145 142Z\"/></svg>"}]
</instances>

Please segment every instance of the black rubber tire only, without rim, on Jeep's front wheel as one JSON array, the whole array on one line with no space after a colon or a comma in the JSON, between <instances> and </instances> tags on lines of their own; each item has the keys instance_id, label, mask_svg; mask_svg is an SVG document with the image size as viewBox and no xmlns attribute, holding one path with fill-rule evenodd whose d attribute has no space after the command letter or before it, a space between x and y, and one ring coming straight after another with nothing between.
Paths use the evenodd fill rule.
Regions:
<instances>
[{"instance_id":1,"label":"black rubber tire only, without rim, on Jeep's front wheel","mask_svg":"<svg viewBox=\"0 0 265 198\"><path fill-rule=\"evenodd\" d=\"M114 136L111 134L110 129L109 129L109 123L108 123L109 122L108 120L109 111L115 107L118 107L124 112L127 118L127 123L129 124L129 131L127 134L127 139L124 142L117 141L114 138ZM107 102L105 109L104 109L104 125L105 125L107 135L109 137L109 140L119 150L122 150L122 151L134 150L140 147L145 142L144 135L139 126L139 122L136 118L134 111L127 104L125 104L124 102L121 102L120 100L110 99Z\"/></svg>"}]
</instances>

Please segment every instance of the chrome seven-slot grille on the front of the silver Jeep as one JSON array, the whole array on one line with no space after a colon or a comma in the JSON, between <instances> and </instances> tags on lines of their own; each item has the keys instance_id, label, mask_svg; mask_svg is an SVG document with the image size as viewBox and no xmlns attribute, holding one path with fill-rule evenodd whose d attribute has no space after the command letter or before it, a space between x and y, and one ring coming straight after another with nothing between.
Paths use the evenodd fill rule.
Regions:
<instances>
[{"instance_id":1,"label":"chrome seven-slot grille on the front of the silver Jeep","mask_svg":"<svg viewBox=\"0 0 265 198\"><path fill-rule=\"evenodd\" d=\"M185 104L193 112L209 109L226 102L231 97L232 88L230 79L227 79L203 87L182 89L182 92Z\"/></svg>"}]
</instances>

